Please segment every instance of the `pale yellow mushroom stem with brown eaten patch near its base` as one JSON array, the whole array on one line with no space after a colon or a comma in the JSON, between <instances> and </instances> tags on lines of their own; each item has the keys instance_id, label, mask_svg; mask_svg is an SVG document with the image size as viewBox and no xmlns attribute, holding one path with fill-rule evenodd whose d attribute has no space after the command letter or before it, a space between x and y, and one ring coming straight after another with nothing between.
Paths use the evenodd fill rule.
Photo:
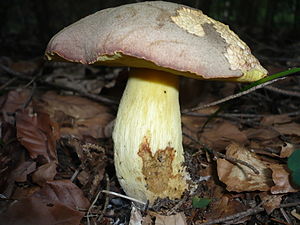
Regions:
<instances>
[{"instance_id":1,"label":"pale yellow mushroom stem with brown eaten patch near its base","mask_svg":"<svg viewBox=\"0 0 300 225\"><path fill-rule=\"evenodd\" d=\"M178 83L167 72L133 69L119 106L113 132L117 177L128 196L150 204L180 198L187 188Z\"/></svg>"}]
</instances>

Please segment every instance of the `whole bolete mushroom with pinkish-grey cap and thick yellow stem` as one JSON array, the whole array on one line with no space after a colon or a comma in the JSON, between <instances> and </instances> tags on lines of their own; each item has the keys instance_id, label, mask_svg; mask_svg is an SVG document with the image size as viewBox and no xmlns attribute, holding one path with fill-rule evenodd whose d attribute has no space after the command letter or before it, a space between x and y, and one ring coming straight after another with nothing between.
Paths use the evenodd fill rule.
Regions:
<instances>
[{"instance_id":1,"label":"whole bolete mushroom with pinkish-grey cap and thick yellow stem","mask_svg":"<svg viewBox=\"0 0 300 225\"><path fill-rule=\"evenodd\" d=\"M228 26L198 9L163 1L87 16L56 34L46 56L134 68L113 131L114 160L126 194L150 204L180 198L188 188L178 75L251 82L267 74Z\"/></svg>"}]
</instances>

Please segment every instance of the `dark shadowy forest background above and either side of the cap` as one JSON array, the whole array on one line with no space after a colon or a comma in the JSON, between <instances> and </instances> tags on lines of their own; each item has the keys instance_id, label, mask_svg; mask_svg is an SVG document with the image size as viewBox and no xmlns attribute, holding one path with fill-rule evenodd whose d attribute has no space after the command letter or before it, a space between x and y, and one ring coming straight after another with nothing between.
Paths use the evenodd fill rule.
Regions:
<instances>
[{"instance_id":1,"label":"dark shadowy forest background above and either side of the cap","mask_svg":"<svg viewBox=\"0 0 300 225\"><path fill-rule=\"evenodd\" d=\"M134 0L1 0L0 56L41 56L63 27ZM300 0L177 0L228 25L262 61L299 65Z\"/></svg>"}]
</instances>

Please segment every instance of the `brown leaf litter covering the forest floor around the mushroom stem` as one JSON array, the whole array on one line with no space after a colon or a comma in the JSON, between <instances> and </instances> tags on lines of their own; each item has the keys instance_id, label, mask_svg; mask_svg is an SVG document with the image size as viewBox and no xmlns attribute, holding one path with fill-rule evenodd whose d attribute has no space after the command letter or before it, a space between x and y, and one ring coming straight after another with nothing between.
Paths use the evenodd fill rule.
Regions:
<instances>
[{"instance_id":1,"label":"brown leaf litter covering the forest floor around the mushroom stem","mask_svg":"<svg viewBox=\"0 0 300 225\"><path fill-rule=\"evenodd\" d=\"M123 86L116 79L119 69L103 72L81 67L71 77L76 70L66 64L54 66L48 80L62 86L72 81L69 86L93 94L113 94L115 86ZM87 70L92 74L88 79ZM109 79L95 78L99 73ZM155 210L143 211L125 199L101 193L122 193L110 137L115 106L80 97L68 88L53 91L43 85L33 92L19 82L0 98L0 224L263 224L285 221L286 214L295 223L298 220L299 189L290 182L287 157L300 148L300 120L295 113L299 99L260 90L235 100L208 124L207 116L220 106L183 115L192 191L183 200L161 199ZM185 107L193 107L200 99L215 101L238 88L237 84L208 82L202 97L188 102L193 93L185 85L194 84L182 85ZM115 92L112 97L119 98L120 90ZM273 95L276 104L270 100ZM204 208L193 207L193 199L210 202Z\"/></svg>"}]
</instances>

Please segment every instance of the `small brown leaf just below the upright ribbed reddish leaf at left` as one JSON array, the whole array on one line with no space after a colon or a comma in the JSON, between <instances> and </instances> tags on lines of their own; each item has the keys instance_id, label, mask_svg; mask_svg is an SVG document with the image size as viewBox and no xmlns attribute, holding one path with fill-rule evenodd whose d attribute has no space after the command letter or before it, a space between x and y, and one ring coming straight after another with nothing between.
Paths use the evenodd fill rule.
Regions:
<instances>
[{"instance_id":1,"label":"small brown leaf just below the upright ribbed reddish leaf at left","mask_svg":"<svg viewBox=\"0 0 300 225\"><path fill-rule=\"evenodd\" d=\"M46 181L51 181L56 175L56 162L50 161L40 166L33 174L32 181L42 186Z\"/></svg>"}]
</instances>

